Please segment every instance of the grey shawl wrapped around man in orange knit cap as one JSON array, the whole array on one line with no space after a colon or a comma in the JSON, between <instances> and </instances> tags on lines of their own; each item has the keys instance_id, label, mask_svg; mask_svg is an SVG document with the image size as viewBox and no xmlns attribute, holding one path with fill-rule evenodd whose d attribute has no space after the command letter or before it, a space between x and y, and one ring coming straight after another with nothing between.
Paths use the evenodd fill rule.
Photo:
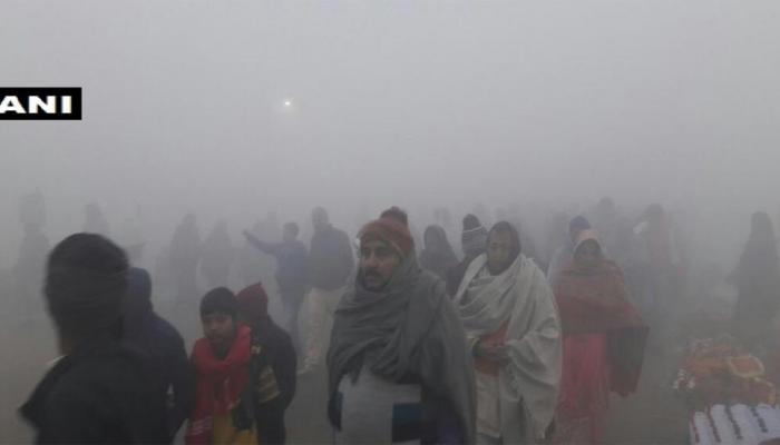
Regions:
<instances>
[{"instance_id":1,"label":"grey shawl wrapped around man in orange knit cap","mask_svg":"<svg viewBox=\"0 0 780 445\"><path fill-rule=\"evenodd\" d=\"M344 376L357 377L363 365L390 382L416 376L426 392L448 403L461 439L471 444L476 392L465 338L445 283L420 270L413 255L382 291L365 289L359 277L334 315L328 352L330 397Z\"/></svg>"}]
</instances>

